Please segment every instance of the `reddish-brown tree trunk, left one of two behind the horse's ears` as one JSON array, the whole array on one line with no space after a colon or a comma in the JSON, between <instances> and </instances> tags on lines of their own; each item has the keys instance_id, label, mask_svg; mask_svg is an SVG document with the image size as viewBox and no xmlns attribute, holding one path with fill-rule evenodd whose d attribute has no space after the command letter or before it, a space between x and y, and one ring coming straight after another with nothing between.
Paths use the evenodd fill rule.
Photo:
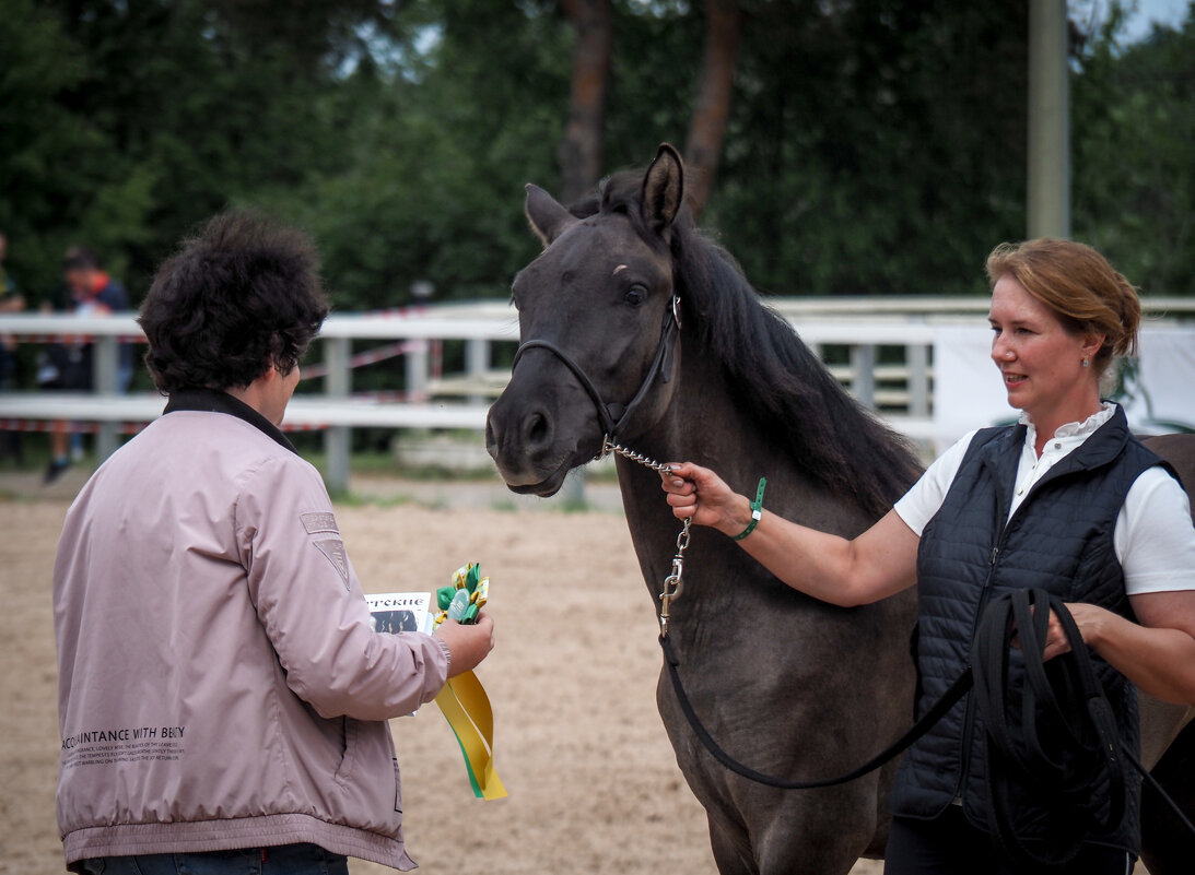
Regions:
<instances>
[{"instance_id":1,"label":"reddish-brown tree trunk, left one of two behind the horse's ears","mask_svg":"<svg viewBox=\"0 0 1195 875\"><path fill-rule=\"evenodd\" d=\"M557 149L560 201L568 204L589 191L601 175L614 16L611 0L560 0L560 6L577 31L569 123Z\"/></svg>"}]
</instances>

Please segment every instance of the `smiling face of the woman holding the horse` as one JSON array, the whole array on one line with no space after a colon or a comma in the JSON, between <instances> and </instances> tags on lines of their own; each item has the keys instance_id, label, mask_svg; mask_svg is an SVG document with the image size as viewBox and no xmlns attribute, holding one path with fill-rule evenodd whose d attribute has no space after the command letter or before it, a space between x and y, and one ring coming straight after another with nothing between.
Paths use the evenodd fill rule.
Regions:
<instances>
[{"instance_id":1,"label":"smiling face of the woman holding the horse","mask_svg":"<svg viewBox=\"0 0 1195 875\"><path fill-rule=\"evenodd\" d=\"M1089 363L1103 338L1073 334L1011 276L992 289L992 361L1009 403L1038 427L1083 421L1098 409L1099 378ZM1095 405L1095 409L1091 409Z\"/></svg>"}]
</instances>

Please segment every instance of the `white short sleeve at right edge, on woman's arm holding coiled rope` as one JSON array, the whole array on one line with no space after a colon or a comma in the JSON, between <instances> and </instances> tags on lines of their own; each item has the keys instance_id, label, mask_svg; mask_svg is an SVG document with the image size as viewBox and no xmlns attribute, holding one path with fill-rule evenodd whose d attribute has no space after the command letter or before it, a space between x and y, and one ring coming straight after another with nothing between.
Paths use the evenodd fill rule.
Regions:
<instances>
[{"instance_id":1,"label":"white short sleeve at right edge, on woman's arm holding coiled rope","mask_svg":"<svg viewBox=\"0 0 1195 875\"><path fill-rule=\"evenodd\" d=\"M1163 468L1148 468L1133 482L1113 538L1129 596L1195 590L1190 499Z\"/></svg>"}]
</instances>

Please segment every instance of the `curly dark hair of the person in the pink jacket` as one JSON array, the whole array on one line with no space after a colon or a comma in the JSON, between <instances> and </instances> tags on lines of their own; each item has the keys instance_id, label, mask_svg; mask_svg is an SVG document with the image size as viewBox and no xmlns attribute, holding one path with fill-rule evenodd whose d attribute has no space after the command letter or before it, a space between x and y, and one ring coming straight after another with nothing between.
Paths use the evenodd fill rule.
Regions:
<instances>
[{"instance_id":1,"label":"curly dark hair of the person in the pink jacket","mask_svg":"<svg viewBox=\"0 0 1195 875\"><path fill-rule=\"evenodd\" d=\"M289 374L327 315L319 258L302 232L252 211L213 217L154 276L137 320L165 394L241 388Z\"/></svg>"}]
</instances>

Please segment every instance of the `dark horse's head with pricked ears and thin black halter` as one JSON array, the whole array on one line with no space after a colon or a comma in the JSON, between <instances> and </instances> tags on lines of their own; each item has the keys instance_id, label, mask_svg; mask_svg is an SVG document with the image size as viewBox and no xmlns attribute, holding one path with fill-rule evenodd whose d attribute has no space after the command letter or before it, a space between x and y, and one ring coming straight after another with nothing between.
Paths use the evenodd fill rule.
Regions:
<instances>
[{"instance_id":1,"label":"dark horse's head with pricked ears and thin black halter","mask_svg":"<svg viewBox=\"0 0 1195 875\"><path fill-rule=\"evenodd\" d=\"M612 177L575 211L527 186L544 252L511 286L521 346L485 427L514 492L554 494L606 438L642 435L667 408L680 328L670 239L682 204L684 168L668 144L642 179Z\"/></svg>"}]
</instances>

